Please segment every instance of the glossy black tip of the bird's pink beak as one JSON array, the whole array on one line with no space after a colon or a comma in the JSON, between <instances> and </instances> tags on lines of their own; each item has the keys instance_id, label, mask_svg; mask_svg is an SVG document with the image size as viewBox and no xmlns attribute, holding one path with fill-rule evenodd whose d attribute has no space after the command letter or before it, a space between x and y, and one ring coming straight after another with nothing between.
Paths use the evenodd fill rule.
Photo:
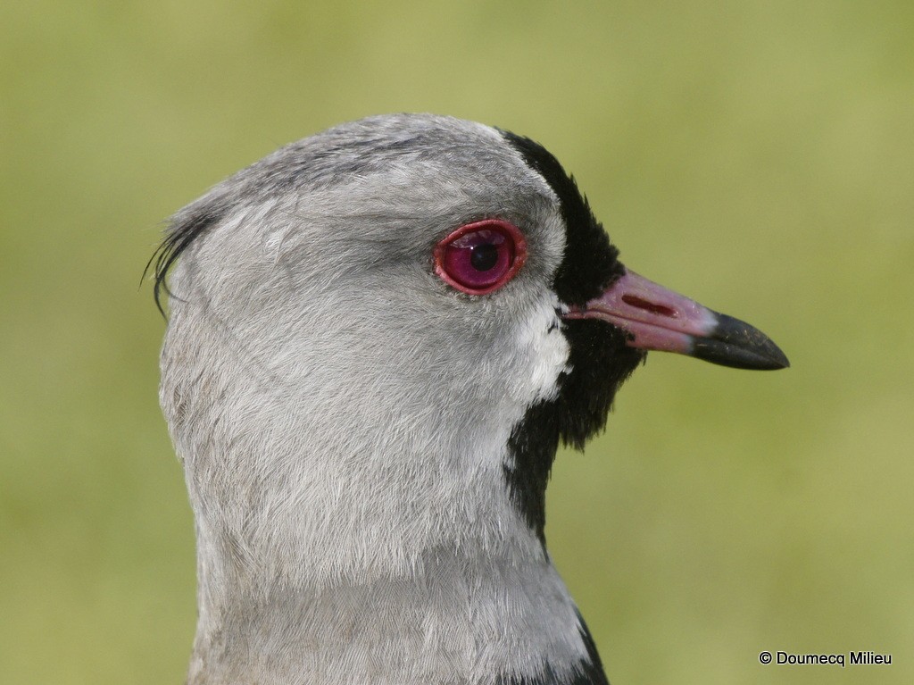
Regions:
<instances>
[{"instance_id":1,"label":"glossy black tip of the bird's pink beak","mask_svg":"<svg viewBox=\"0 0 914 685\"><path fill-rule=\"evenodd\" d=\"M733 316L717 314L717 326L707 337L696 337L692 356L733 369L787 369L791 362L781 348L755 326Z\"/></svg>"}]
</instances>

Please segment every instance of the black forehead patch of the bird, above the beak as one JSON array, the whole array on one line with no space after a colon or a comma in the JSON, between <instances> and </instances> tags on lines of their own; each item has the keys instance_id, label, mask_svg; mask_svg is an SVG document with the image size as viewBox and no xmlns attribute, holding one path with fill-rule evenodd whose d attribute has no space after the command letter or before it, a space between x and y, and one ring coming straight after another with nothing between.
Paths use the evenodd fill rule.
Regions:
<instances>
[{"instance_id":1,"label":"black forehead patch of the bird, above the beak","mask_svg":"<svg viewBox=\"0 0 914 685\"><path fill-rule=\"evenodd\" d=\"M587 198L581 195L574 178L565 173L558 159L529 138L507 131L501 133L558 196L567 240L554 287L566 305L584 305L625 273L625 267L618 261L619 251L593 216Z\"/></svg>"}]
</instances>

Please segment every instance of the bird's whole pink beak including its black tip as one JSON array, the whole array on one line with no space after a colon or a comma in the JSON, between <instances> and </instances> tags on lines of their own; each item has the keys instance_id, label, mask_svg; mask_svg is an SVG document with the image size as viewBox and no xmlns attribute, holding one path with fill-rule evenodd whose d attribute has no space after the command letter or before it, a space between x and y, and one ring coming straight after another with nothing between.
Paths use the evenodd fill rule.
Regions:
<instances>
[{"instance_id":1,"label":"bird's whole pink beak including its black tip","mask_svg":"<svg viewBox=\"0 0 914 685\"><path fill-rule=\"evenodd\" d=\"M631 271L565 318L596 318L622 328L632 348L678 352L736 369L790 366L781 349L758 328Z\"/></svg>"}]
</instances>

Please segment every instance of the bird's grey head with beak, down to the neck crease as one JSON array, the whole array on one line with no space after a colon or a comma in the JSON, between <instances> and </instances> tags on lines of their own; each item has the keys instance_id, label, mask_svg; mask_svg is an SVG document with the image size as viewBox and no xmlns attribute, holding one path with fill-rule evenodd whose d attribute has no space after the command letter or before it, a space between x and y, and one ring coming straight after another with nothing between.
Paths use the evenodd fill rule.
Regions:
<instances>
[{"instance_id":1,"label":"bird's grey head with beak, down to the neck crease","mask_svg":"<svg viewBox=\"0 0 914 685\"><path fill-rule=\"evenodd\" d=\"M555 157L478 123L373 117L229 177L154 262L198 525L242 566L306 544L277 563L324 576L538 545L559 441L602 428L647 350L787 365L618 256Z\"/></svg>"}]
</instances>

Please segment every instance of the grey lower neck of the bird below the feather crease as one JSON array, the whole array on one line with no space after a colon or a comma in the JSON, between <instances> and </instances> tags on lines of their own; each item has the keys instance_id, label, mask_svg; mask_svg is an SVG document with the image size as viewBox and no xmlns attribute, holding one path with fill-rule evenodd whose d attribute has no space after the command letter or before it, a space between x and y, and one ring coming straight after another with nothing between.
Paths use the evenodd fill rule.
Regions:
<instances>
[{"instance_id":1,"label":"grey lower neck of the bird below the feather crease","mask_svg":"<svg viewBox=\"0 0 914 685\"><path fill-rule=\"evenodd\" d=\"M545 553L442 547L405 573L315 583L255 565L227 573L234 561L201 549L190 685L532 683L588 656Z\"/></svg>"}]
</instances>

